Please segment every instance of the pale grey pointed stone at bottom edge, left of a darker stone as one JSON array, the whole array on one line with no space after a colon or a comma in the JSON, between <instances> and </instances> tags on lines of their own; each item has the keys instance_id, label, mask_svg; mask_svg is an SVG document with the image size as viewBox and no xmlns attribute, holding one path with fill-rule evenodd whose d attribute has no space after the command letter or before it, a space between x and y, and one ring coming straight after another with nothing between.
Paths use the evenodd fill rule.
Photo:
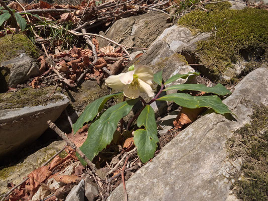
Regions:
<instances>
[{"instance_id":1,"label":"pale grey pointed stone at bottom edge, left of a darker stone","mask_svg":"<svg viewBox=\"0 0 268 201\"><path fill-rule=\"evenodd\" d=\"M85 200L85 180L82 179L78 185L74 186L67 195L66 201L84 201Z\"/></svg>"}]
</instances>

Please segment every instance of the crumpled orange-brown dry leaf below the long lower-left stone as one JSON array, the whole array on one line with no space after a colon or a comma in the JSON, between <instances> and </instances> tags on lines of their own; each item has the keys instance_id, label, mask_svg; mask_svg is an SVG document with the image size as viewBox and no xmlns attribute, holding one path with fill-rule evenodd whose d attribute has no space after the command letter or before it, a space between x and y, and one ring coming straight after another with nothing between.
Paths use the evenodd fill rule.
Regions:
<instances>
[{"instance_id":1,"label":"crumpled orange-brown dry leaf below the long lower-left stone","mask_svg":"<svg viewBox=\"0 0 268 201\"><path fill-rule=\"evenodd\" d=\"M36 191L40 183L45 181L51 175L51 173L52 172L49 170L49 166L42 166L35 169L28 175L29 179L25 188L32 192Z\"/></svg>"}]
</instances>

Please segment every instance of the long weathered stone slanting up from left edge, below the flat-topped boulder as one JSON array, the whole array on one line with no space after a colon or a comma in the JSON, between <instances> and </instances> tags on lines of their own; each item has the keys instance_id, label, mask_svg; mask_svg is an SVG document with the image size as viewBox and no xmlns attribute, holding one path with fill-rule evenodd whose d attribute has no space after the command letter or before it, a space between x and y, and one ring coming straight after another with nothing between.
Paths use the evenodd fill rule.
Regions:
<instances>
[{"instance_id":1,"label":"long weathered stone slanting up from left edge, below the flat-topped boulder","mask_svg":"<svg viewBox=\"0 0 268 201\"><path fill-rule=\"evenodd\" d=\"M27 175L33 170L40 167L55 153L62 149L66 145L66 142L55 141L47 147L44 147L37 152L22 158L17 164L10 167L0 169L0 192L5 193L9 191L8 181L12 181L15 185L24 180Z\"/></svg>"}]
</instances>

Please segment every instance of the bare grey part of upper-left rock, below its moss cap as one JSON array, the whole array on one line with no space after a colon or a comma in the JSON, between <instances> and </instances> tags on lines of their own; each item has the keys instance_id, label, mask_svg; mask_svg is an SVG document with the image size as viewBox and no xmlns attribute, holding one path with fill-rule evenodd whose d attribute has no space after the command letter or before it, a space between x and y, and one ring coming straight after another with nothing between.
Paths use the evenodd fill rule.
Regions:
<instances>
[{"instance_id":1,"label":"bare grey part of upper-left rock, below its moss cap","mask_svg":"<svg viewBox=\"0 0 268 201\"><path fill-rule=\"evenodd\" d=\"M2 69L9 69L9 86L16 87L18 84L24 83L30 77L39 75L39 66L37 62L27 56L25 53L20 57L4 61L1 65Z\"/></svg>"}]
</instances>

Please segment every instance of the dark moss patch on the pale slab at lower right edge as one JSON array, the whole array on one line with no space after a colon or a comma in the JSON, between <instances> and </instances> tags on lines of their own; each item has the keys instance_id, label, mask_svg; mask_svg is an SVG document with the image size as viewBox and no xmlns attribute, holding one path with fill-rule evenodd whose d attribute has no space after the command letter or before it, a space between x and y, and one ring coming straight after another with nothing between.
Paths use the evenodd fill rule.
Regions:
<instances>
[{"instance_id":1,"label":"dark moss patch on the pale slab at lower right edge","mask_svg":"<svg viewBox=\"0 0 268 201\"><path fill-rule=\"evenodd\" d=\"M242 200L268 200L268 108L255 107L250 124L228 141L231 158L242 158L233 191Z\"/></svg>"}]
</instances>

